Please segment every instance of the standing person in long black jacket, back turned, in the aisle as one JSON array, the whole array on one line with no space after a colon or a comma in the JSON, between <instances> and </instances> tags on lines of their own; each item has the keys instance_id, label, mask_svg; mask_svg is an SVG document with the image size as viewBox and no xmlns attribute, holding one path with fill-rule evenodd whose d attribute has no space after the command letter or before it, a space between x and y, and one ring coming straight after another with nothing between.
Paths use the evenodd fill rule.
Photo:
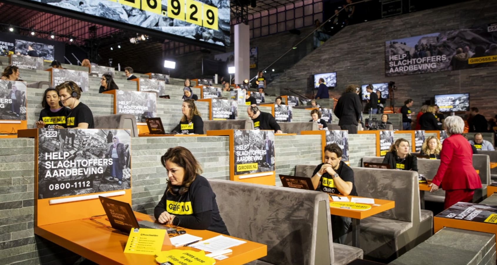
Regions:
<instances>
[{"instance_id":1,"label":"standing person in long black jacket, back turned, in the aisle","mask_svg":"<svg viewBox=\"0 0 497 265\"><path fill-rule=\"evenodd\" d=\"M356 85L349 85L345 89L334 109L336 117L338 117L338 125L342 130L348 130L350 134L357 133L357 125L361 116L362 104L359 95L355 93Z\"/></svg>"}]
</instances>

